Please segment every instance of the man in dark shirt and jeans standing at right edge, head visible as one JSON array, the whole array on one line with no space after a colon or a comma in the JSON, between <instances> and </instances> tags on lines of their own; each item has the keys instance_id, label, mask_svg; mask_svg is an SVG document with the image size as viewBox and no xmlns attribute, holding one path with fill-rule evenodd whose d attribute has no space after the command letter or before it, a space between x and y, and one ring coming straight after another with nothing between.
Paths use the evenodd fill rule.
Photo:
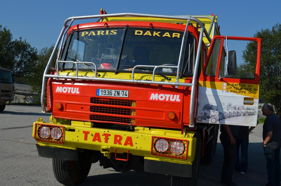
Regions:
<instances>
[{"instance_id":1,"label":"man in dark shirt and jeans standing at right edge, head visible","mask_svg":"<svg viewBox=\"0 0 281 186\"><path fill-rule=\"evenodd\" d=\"M281 121L274 115L271 104L263 105L262 114L266 116L263 124L263 150L267 168L267 185L280 186L280 148L281 148Z\"/></svg>"}]
</instances>

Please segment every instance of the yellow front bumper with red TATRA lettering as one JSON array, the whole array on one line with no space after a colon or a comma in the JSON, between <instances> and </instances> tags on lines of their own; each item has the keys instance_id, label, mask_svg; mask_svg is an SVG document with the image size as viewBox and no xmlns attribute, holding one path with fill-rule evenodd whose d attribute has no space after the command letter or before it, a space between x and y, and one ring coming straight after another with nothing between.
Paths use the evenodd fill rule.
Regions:
<instances>
[{"instance_id":1,"label":"yellow front bumper with red TATRA lettering","mask_svg":"<svg viewBox=\"0 0 281 186\"><path fill-rule=\"evenodd\" d=\"M69 123L68 123L69 124ZM97 150L110 157L111 153L127 153L143 156L145 159L176 162L190 164L193 162L196 149L195 132L167 129L149 129L148 127L134 127L134 131L120 131L112 129L93 128L88 122L72 121L71 125L65 125L63 122L43 122L38 119L33 125L32 136L38 142L39 146L48 146L53 148L63 148L69 150L89 149ZM62 129L62 137L59 140L53 138L43 139L39 137L40 127L47 126L59 127ZM155 139L173 139L187 141L185 147L185 156L178 158L172 156L163 156L163 154L154 155ZM154 140L154 142L153 142ZM155 150L154 150L155 151ZM184 154L184 153L183 153Z\"/></svg>"}]
</instances>

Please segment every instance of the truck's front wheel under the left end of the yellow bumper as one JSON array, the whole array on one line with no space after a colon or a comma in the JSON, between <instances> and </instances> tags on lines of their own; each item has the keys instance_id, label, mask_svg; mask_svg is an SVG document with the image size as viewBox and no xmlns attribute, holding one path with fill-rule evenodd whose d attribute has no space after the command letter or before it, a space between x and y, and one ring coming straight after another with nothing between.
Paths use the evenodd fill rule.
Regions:
<instances>
[{"instance_id":1,"label":"truck's front wheel under the left end of the yellow bumper","mask_svg":"<svg viewBox=\"0 0 281 186\"><path fill-rule=\"evenodd\" d=\"M57 181L63 185L78 185L82 183L91 168L91 163L53 159L53 171Z\"/></svg>"}]
</instances>

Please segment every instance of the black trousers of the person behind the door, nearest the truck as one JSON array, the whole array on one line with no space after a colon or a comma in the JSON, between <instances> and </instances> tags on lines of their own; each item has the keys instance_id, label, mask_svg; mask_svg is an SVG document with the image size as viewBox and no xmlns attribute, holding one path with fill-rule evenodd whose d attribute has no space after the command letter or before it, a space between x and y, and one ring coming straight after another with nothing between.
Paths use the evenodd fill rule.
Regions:
<instances>
[{"instance_id":1,"label":"black trousers of the person behind the door, nearest the truck","mask_svg":"<svg viewBox=\"0 0 281 186\"><path fill-rule=\"evenodd\" d=\"M220 134L220 141L224 148L221 182L228 185L232 183L231 179L236 162L236 144L230 144L230 138L226 133Z\"/></svg>"}]
</instances>

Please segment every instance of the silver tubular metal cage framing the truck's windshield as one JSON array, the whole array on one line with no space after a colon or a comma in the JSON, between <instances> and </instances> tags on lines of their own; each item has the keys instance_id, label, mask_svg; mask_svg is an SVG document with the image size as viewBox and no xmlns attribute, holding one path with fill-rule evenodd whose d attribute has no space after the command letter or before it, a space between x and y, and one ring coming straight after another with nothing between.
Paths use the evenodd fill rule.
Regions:
<instances>
[{"instance_id":1,"label":"silver tubular metal cage framing the truck's windshield","mask_svg":"<svg viewBox=\"0 0 281 186\"><path fill-rule=\"evenodd\" d=\"M147 81L147 80L134 80L134 71L135 71L136 67L148 67L147 65L137 65L132 70L132 80L122 80L122 79L110 79L110 78L97 78L97 66L95 64L94 64L94 66L95 66L95 77L78 76L78 63L80 63L80 62L59 61L59 56L61 54L64 38L65 38L66 34L68 33L68 30L71 27L74 20L100 18L100 21L102 21L103 18L107 18L107 17L148 17L148 18L165 18L165 19L186 20L186 28L185 28L185 31L184 31L184 35L182 37L182 44L181 44L181 49L180 49L178 66L161 66L161 65L160 66L149 66L149 67L154 67L154 69L153 69L153 80ZM211 20L209 32L207 32L203 23L197 18L207 18L207 19ZM70 22L69 25L67 25L69 21L71 21L71 22ZM196 55L195 65L194 65L194 70L193 70L192 83L180 83L179 82L179 77L180 77L180 71L179 70L177 70L176 82L154 81L155 70L157 68L165 67L165 68L180 69L181 63L183 62L183 58L184 58L184 50L185 50L185 44L186 44L185 38L187 37L186 33L187 33L187 28L188 28L188 25L189 25L190 21L197 22L200 25L200 28L201 28L200 35L199 35L199 44L198 44L198 48L197 48L197 55ZM46 112L44 98L45 98L45 86L46 86L46 79L47 78L55 78L55 79L61 78L61 79L73 79L73 80L97 80L97 81L105 81L105 82L124 82L124 83L136 83L136 84L171 85L171 86L175 86L176 88L178 88L179 86L187 86L187 87L191 87L190 108L189 108L189 121L190 121L189 127L194 127L194 122L193 122L194 94L195 94L195 84L196 84L196 79L197 79L196 77L197 77L197 73L198 73L198 66L199 66L199 60L200 60L202 41L203 41L203 37L206 37L208 39L208 41L211 43L212 39L210 38L209 35L211 33L211 29L213 27L214 21L215 21L215 16L213 16L213 18L211 18L209 16L190 16L190 15L187 15L187 16L169 16L169 15L154 15L154 14L141 14L141 13L115 13L115 14L88 15L88 16L77 16L77 17L73 16L73 17L70 17L70 18L66 19L65 22L63 23L63 28L61 29L61 32L59 34L59 38L57 39L57 42L55 44L55 47L53 49L53 52L51 54L51 57L50 57L50 59L47 63L47 66L46 66L44 74L43 74L42 91L41 91L42 113ZM61 43L61 45L59 47L58 56L57 56L57 60L56 60L57 73L56 73L56 75L47 74L47 72L50 68L51 62L52 62L52 60L55 56L56 50L59 46L59 43ZM59 75L59 63L64 63L64 62L74 63L76 65L76 76ZM81 62L81 63L91 63L91 62Z\"/></svg>"}]
</instances>

